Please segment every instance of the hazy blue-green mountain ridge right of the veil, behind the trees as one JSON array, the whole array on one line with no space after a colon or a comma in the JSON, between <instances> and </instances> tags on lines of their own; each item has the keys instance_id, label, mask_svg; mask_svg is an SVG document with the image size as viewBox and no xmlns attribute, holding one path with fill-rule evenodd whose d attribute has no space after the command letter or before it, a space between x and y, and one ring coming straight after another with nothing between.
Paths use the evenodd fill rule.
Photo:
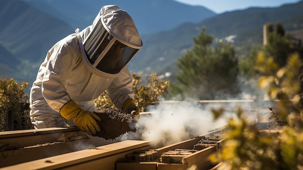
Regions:
<instances>
[{"instance_id":1,"label":"hazy blue-green mountain ridge right of the veil, behind the trees","mask_svg":"<svg viewBox=\"0 0 303 170\"><path fill-rule=\"evenodd\" d=\"M249 51L253 45L262 44L263 25L268 22L283 21L282 25L288 25L290 30L303 29L302 19L300 20L303 18L302 9L303 1L277 8L248 8L215 15L197 24L184 23L169 31L143 35L144 46L132 59L129 67L133 72L147 74L151 71L159 74L174 73L177 70L177 59L192 47L193 37L197 37L202 27L215 39L237 37L233 39L236 52L239 56L243 55L243 52ZM258 42L246 41L256 37Z\"/></svg>"}]
</instances>

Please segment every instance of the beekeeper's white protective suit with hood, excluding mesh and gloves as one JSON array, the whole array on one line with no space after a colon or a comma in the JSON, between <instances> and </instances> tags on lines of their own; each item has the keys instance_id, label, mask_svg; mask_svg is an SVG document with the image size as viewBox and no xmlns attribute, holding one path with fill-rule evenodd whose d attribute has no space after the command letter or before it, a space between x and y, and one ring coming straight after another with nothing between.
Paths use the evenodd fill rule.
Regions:
<instances>
[{"instance_id":1,"label":"beekeeper's white protective suit with hood, excluding mesh and gloves","mask_svg":"<svg viewBox=\"0 0 303 170\"><path fill-rule=\"evenodd\" d=\"M115 5L104 6L91 26L68 35L47 52L30 92L30 119L35 128L64 127L65 122L75 125L60 114L62 106L71 100L83 110L93 112L97 108L92 100L106 90L119 109L127 99L134 98L133 80L126 65L128 61L117 74L93 70L83 48L83 44L100 20L115 40L136 48L142 46L132 19L126 18L116 22L112 20L115 18L115 12L121 13L121 9ZM120 30L129 26L131 31Z\"/></svg>"}]
</instances>

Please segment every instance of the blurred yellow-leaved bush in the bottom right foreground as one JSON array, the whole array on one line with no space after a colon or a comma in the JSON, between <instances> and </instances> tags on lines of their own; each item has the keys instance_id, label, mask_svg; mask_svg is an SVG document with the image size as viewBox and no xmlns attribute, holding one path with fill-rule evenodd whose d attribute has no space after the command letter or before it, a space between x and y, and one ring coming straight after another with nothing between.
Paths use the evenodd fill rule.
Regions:
<instances>
[{"instance_id":1,"label":"blurred yellow-leaved bush in the bottom right foreground","mask_svg":"<svg viewBox=\"0 0 303 170\"><path fill-rule=\"evenodd\" d=\"M238 108L235 118L227 121L228 139L222 153L210 156L213 162L225 161L232 170L275 170L279 167L279 162L275 160L275 139L249 124L242 108Z\"/></svg>"}]
</instances>

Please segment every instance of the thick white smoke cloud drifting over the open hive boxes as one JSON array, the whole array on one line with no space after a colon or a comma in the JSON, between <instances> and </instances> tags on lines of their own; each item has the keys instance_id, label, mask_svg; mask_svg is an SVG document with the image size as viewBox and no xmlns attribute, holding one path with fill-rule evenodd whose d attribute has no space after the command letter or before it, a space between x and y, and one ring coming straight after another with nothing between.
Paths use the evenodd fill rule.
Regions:
<instances>
[{"instance_id":1,"label":"thick white smoke cloud drifting over the open hive boxes","mask_svg":"<svg viewBox=\"0 0 303 170\"><path fill-rule=\"evenodd\" d=\"M148 114L141 114L136 134L154 145L164 146L203 135L225 124L223 120L214 122L210 109L202 108L197 102L163 102L149 108Z\"/></svg>"}]
</instances>

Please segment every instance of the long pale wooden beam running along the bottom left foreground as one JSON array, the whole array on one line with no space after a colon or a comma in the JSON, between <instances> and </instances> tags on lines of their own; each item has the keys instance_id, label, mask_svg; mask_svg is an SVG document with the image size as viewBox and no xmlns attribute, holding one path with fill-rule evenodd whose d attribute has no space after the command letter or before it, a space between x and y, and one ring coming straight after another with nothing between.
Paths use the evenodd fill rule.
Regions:
<instances>
[{"instance_id":1,"label":"long pale wooden beam running along the bottom left foreground","mask_svg":"<svg viewBox=\"0 0 303 170\"><path fill-rule=\"evenodd\" d=\"M53 170L53 169L80 169L84 166L85 169L106 169L111 168L103 167L113 165L115 167L116 158L110 158L110 155L119 155L122 152L133 152L135 149L149 147L148 141L142 140L125 140L117 143L108 144L96 148L76 151L73 153L47 157L39 160L25 162L9 167L4 167L0 170ZM122 155L121 155L122 156ZM125 156L125 155L124 155ZM102 159L107 157L107 159ZM102 164L103 163L103 164ZM114 169L113 169L114 170Z\"/></svg>"}]
</instances>

